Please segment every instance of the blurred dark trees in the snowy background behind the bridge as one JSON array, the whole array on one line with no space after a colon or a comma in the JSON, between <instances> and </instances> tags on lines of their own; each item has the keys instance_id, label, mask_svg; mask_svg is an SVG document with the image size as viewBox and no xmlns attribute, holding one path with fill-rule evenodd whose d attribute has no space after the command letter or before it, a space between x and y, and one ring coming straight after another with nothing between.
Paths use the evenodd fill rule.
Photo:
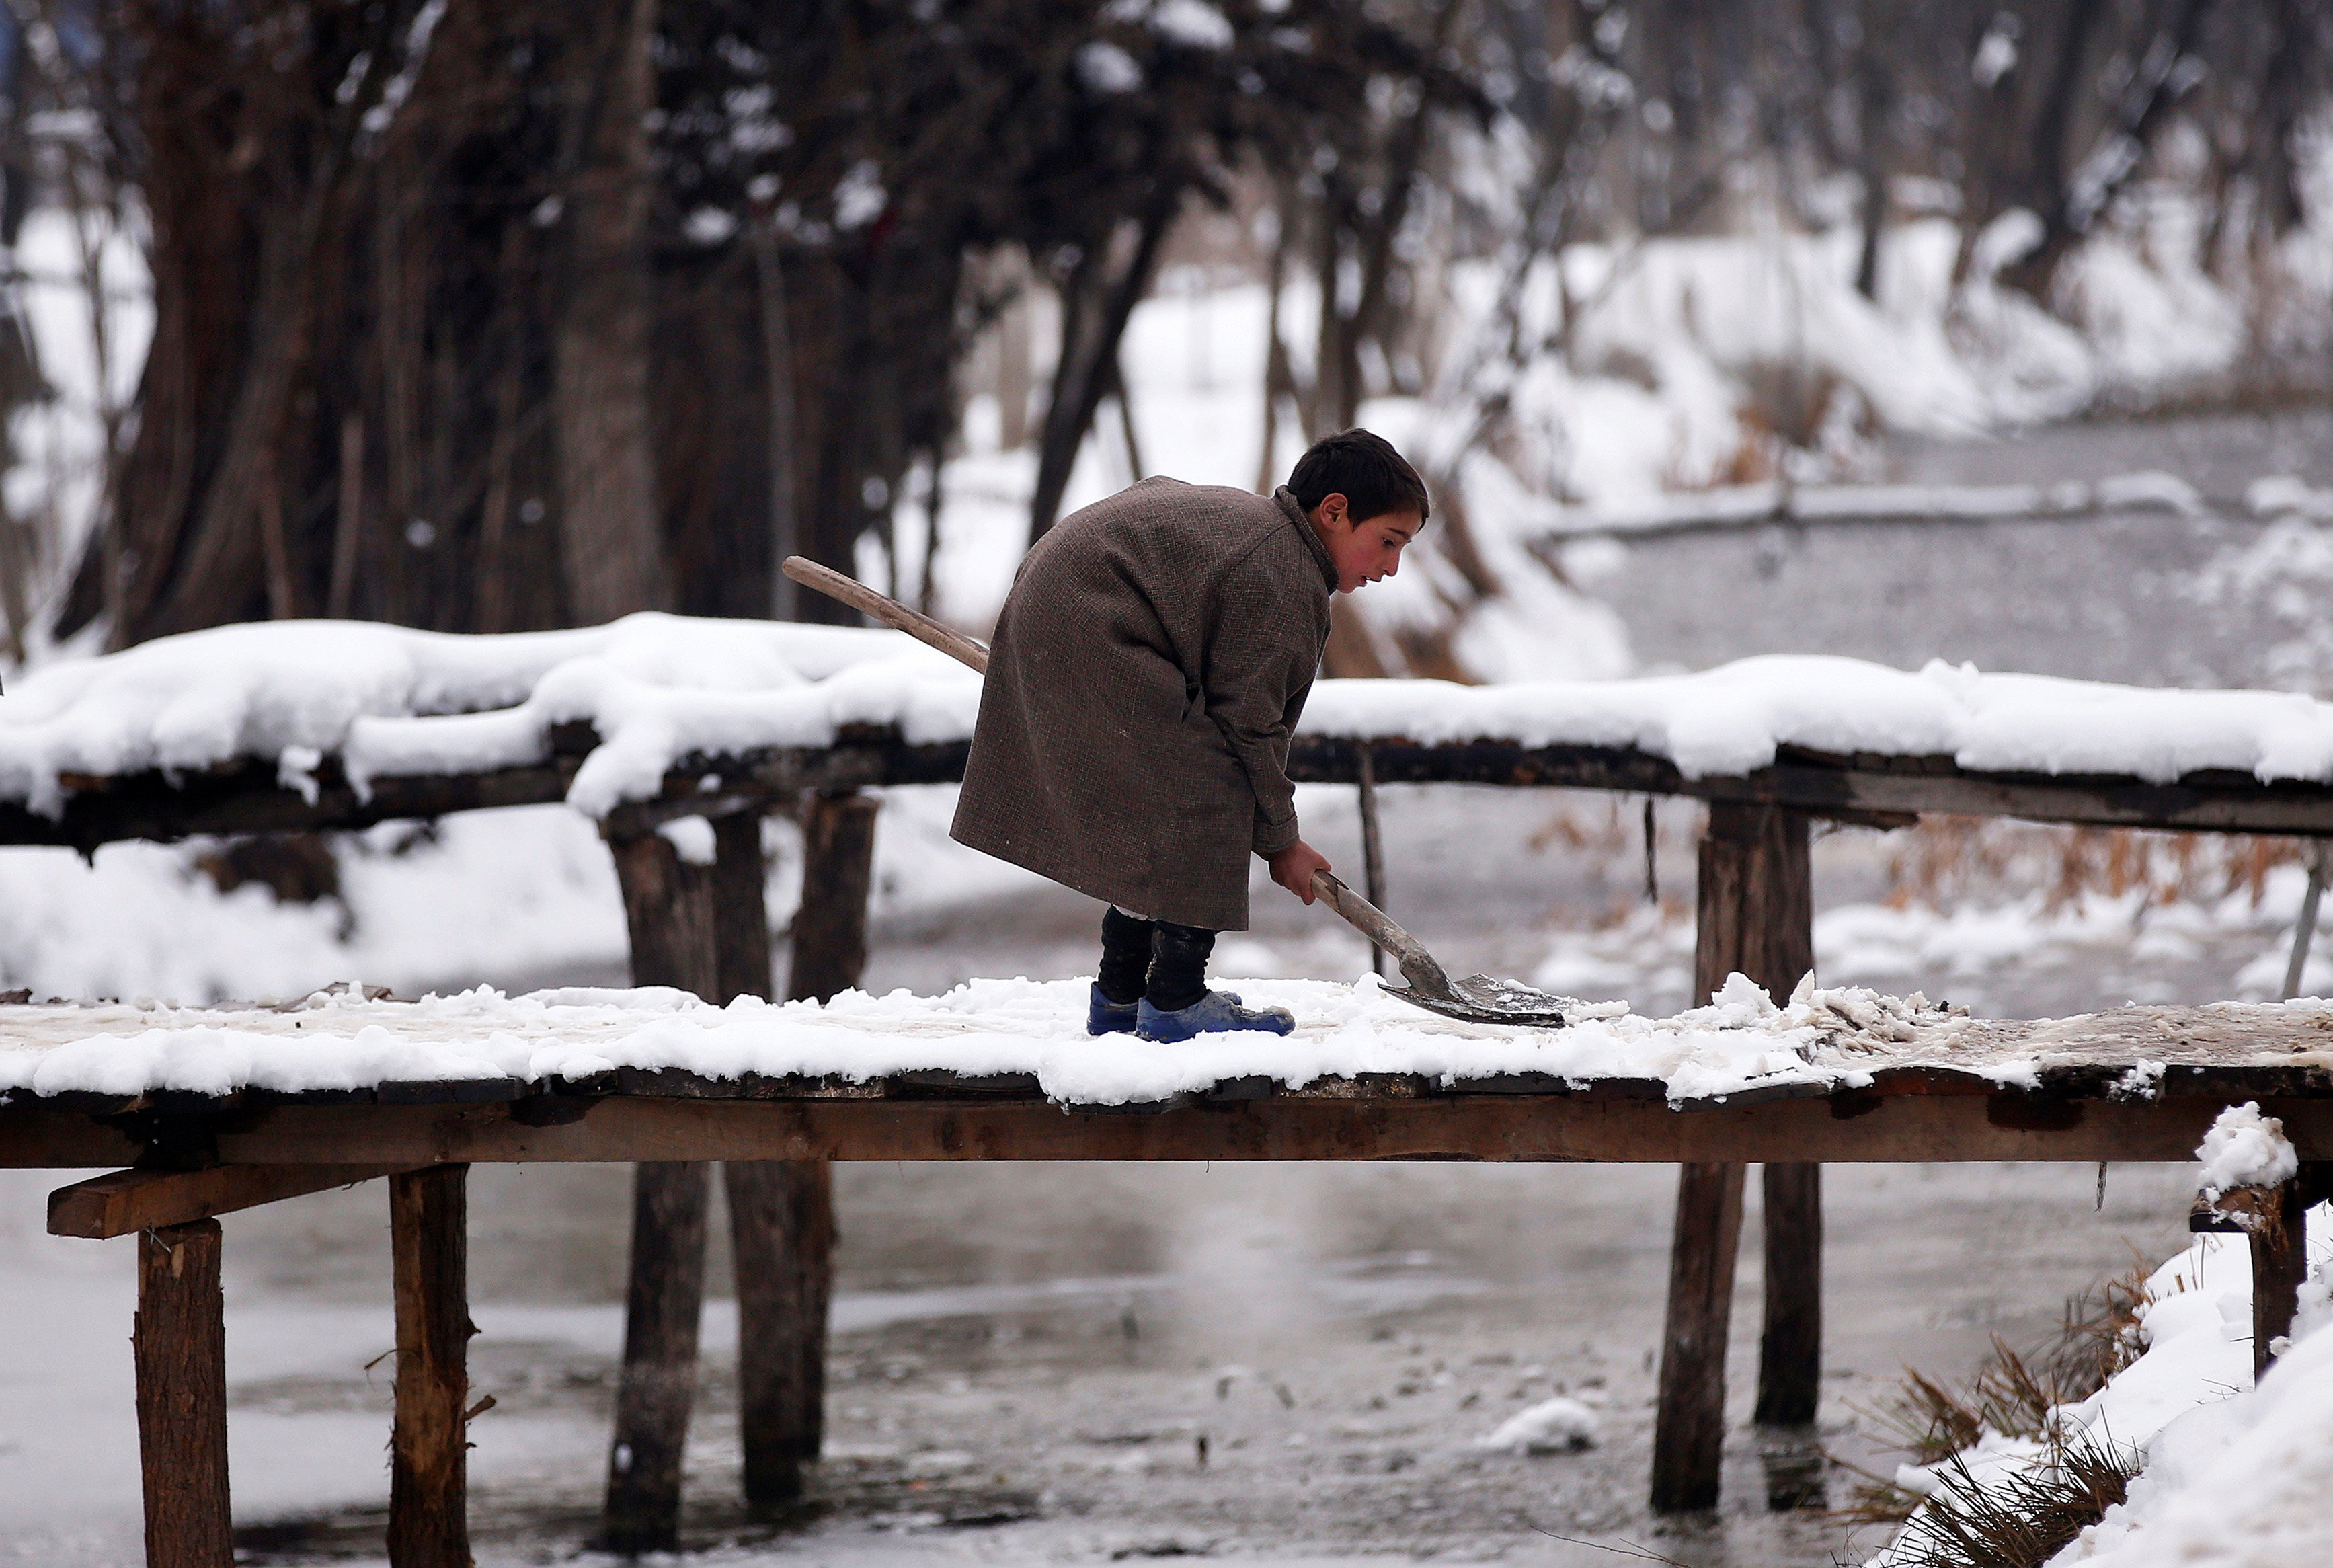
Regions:
<instances>
[{"instance_id":1,"label":"blurred dark trees in the snowy background behind the bridge","mask_svg":"<svg viewBox=\"0 0 2333 1568\"><path fill-rule=\"evenodd\" d=\"M65 238L19 247L0 401L56 404L37 289L79 292L91 362L79 434L12 453L12 639L838 614L786 551L931 600L891 534L973 392L1034 457L1022 539L1092 441L1146 471L1127 322L1178 259L1269 301L1257 485L1374 397L1456 411L1437 481L1530 469L1533 366L1659 380L1582 359L1654 245L1845 233L1878 299L1883 236L1941 219L1955 282L2062 317L2163 182L2254 378L2324 387L2293 320L2326 301L2289 299L2324 280L2277 250L2324 0L12 2L0 240ZM1817 441L1813 385L1729 373ZM1495 595L1451 516L1442 597Z\"/></svg>"}]
</instances>

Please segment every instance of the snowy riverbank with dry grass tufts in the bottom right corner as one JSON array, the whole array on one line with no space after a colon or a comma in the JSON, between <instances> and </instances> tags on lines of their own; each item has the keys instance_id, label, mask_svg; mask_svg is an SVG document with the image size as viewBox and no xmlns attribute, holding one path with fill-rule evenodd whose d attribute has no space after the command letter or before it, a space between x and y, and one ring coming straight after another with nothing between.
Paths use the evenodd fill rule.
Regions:
<instances>
[{"instance_id":1,"label":"snowy riverbank with dry grass tufts in the bottom right corner","mask_svg":"<svg viewBox=\"0 0 2333 1568\"><path fill-rule=\"evenodd\" d=\"M2233 1115L2233 1113L2230 1113ZM2209 1146L2207 1146L2209 1148ZM2205 1234L2144 1288L2144 1351L2104 1388L2060 1405L2055 1440L2135 1451L2144 1468L2051 1568L2282 1568L2333 1554L2333 1335L2321 1332L2333 1279L2333 1209L2310 1211L2310 1283L2293 1346L2251 1386L2251 1248ZM1906 1465L1897 1484L1934 1498L1946 1472L1992 1486L2051 1463L2051 1442L1985 1433L1955 1461ZM1960 1479L1960 1468L1967 1479ZM1922 1507L1934 1507L1927 1503ZM1913 1514L1918 1521L1918 1514ZM1869 1568L1899 1568L1897 1542Z\"/></svg>"}]
</instances>

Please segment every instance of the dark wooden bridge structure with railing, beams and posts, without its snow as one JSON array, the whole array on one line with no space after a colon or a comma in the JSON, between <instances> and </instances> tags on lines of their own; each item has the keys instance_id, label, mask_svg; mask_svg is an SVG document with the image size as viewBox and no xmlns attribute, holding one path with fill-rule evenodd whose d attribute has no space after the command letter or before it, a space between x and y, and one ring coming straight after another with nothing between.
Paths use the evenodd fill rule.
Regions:
<instances>
[{"instance_id":1,"label":"dark wooden bridge structure with railing, beams and posts, without its snow","mask_svg":"<svg viewBox=\"0 0 2333 1568\"><path fill-rule=\"evenodd\" d=\"M397 817L567 798L597 744L555 726L548 756L476 772L371 775L338 758L287 782L271 758L212 768L68 775L54 814L0 805L0 842L96 845L194 833L359 828ZM805 828L805 896L786 994L821 999L866 961L866 894L877 800L887 784L961 777L964 742L912 744L891 728L845 728L833 744L681 756L665 784L602 821L616 861L637 985L712 1001L768 994L761 814L793 810ZM2177 779L1985 772L1943 756L1822 754L1782 747L1771 765L1687 777L1633 747L1521 744L1498 737L1418 744L1379 735L1299 735L1299 782L1465 782L1696 796L1710 803L1698 856L1694 985L1745 973L1789 994L1813 968L1808 824L1901 826L1922 812L2023 817L2114 828L2333 835L2333 786L2263 784L2247 772ZM656 833L714 826L709 866ZM2214 1015L2216 1017L2216 1015ZM2333 1160L2326 1066L2314 1013L2247 1015L2242 1041L2205 1036L2226 1020L2195 1013L2100 1015L2065 1024L2072 1052L2037 1087L2002 1087L1936 1062L1878 1062L1862 1087L1722 1106L1670 1106L1656 1085L1332 1080L1227 1083L1141 1115L1069 1111L1031 1083L896 1078L882 1083L726 1083L618 1073L604 1083L383 1085L322 1104L264 1092L205 1101L173 1092L124 1104L0 1106L9 1164L119 1164L124 1174L58 1197L65 1234L145 1239L140 1377L147 1437L147 1531L154 1563L226 1556L224 1405L217 1388L217 1213L357 1176L387 1174L399 1269L399 1437L392 1561L462 1561L460 1372L462 1176L478 1160L635 1160L632 1288L611 1451L607 1542L674 1540L702 1290L707 1162L726 1162L737 1227L749 1503L796 1496L817 1456L821 1344L831 1288L831 1160L1661 1160L1677 1162L1666 1349L1652 1498L1663 1510L1717 1498L1724 1342L1745 1164L1764 1164L1766 1314L1757 1419L1803 1423L1820 1377L1820 1164L1827 1160L2186 1160L2212 1115L2244 1099L2284 1115L2305 1183ZM2207 1029L2209 1024L2209 1029ZM0 1013L0 1048L7 1045ZM2016 1029L2002 1024L2002 1029ZM2160 1036L2160 1038L2158 1038ZM2181 1045L2184 1043L2184 1045ZM2181 1055L2186 1050L2188 1055ZM2167 1062L2160 1094L2130 1097L2125 1073ZM1754 1101L1754 1104L1752 1104ZM2298 1192L2300 1188L2296 1188ZM2270 1258L2275 1276L2289 1260ZM203 1283L210 1281L210 1283ZM2272 1286L2272 1281L2270 1281ZM2268 1309L2277 1290L2261 1295ZM2289 1290L2286 1290L2289 1300ZM2289 1311L2289 1309L2286 1309ZM2265 1344L2265 1339L2263 1339ZM413 1393L408 1398L408 1370ZM201 1428L187 1409L205 1409ZM175 1412L175 1414L173 1414ZM217 1454L215 1472L205 1458ZM161 1463L163 1456L177 1456Z\"/></svg>"}]
</instances>

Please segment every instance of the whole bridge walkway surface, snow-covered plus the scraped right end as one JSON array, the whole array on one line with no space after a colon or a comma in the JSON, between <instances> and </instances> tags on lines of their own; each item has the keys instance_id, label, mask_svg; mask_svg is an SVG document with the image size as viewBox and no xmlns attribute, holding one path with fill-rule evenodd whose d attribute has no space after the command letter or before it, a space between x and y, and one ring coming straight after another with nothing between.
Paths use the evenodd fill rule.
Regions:
<instances>
[{"instance_id":1,"label":"whole bridge walkway surface, snow-covered plus the scraped right end","mask_svg":"<svg viewBox=\"0 0 2333 1568\"><path fill-rule=\"evenodd\" d=\"M1841 1092L1999 1092L2121 1104L2165 1094L2333 1099L2333 1003L2116 1008L1971 1020L1869 989L1787 1003L1740 975L1712 1006L1638 1017L1579 1006L1561 1029L1463 1024L1362 978L1241 982L1297 1015L1292 1036L1160 1045L1085 1034L1083 980L973 980L943 996L712 1006L677 989L492 989L420 1001L338 989L296 1003L0 1006L0 1111L40 1101L124 1115L236 1101L427 1104L541 1094L695 1099L1003 1097L1166 1108L1283 1094L1565 1094L1680 1111ZM2333 1153L2333 1150L2328 1150Z\"/></svg>"}]
</instances>

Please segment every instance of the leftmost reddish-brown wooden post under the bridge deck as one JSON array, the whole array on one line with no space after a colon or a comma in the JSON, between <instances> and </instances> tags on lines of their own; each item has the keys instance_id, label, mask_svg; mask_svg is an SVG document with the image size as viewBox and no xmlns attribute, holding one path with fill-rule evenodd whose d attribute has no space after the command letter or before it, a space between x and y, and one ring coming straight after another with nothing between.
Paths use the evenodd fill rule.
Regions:
<instances>
[{"instance_id":1,"label":"leftmost reddish-brown wooden post under the bridge deck","mask_svg":"<svg viewBox=\"0 0 2333 1568\"><path fill-rule=\"evenodd\" d=\"M217 1220L138 1234L131 1346L147 1568L233 1568Z\"/></svg>"}]
</instances>

